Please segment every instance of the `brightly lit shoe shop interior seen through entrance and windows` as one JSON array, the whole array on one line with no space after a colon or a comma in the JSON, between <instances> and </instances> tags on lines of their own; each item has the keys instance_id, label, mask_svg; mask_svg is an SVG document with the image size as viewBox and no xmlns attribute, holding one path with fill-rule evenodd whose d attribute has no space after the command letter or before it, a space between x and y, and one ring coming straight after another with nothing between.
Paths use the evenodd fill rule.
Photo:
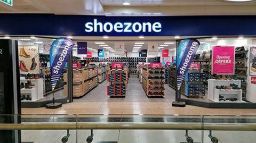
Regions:
<instances>
[{"instance_id":1,"label":"brightly lit shoe shop interior seen through entrance and windows","mask_svg":"<svg viewBox=\"0 0 256 143\"><path fill-rule=\"evenodd\" d=\"M69 102L67 68L54 91L51 87L49 51L54 38L12 38L19 41L22 107L49 103L52 92L55 99ZM187 37L69 38L76 43L72 54L73 102L172 103L175 100L177 42ZM256 102L256 85L252 81L256 75L256 56L251 54L256 50L253 46L256 38L196 38L201 45L180 88L180 98L218 104ZM77 52L77 43L81 41L87 42L87 54ZM124 45L123 54L116 53L116 44ZM149 52L152 44L157 52ZM234 74L213 73L212 50L216 46L235 47ZM119 67L118 63L122 65Z\"/></svg>"}]
</instances>

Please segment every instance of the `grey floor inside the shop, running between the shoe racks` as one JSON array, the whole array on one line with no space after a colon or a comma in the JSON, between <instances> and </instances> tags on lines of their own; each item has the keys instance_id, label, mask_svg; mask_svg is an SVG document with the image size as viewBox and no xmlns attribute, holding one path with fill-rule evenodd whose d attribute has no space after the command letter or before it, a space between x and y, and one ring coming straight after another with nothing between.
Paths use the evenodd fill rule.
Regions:
<instances>
[{"instance_id":1,"label":"grey floor inside the shop, running between the shoe racks","mask_svg":"<svg viewBox=\"0 0 256 143\"><path fill-rule=\"evenodd\" d=\"M106 94L107 80L94 88L82 98L74 99L74 102L173 102L175 91L165 86L164 98L148 98L136 75L131 75L127 86L125 98L109 98Z\"/></svg>"}]
</instances>

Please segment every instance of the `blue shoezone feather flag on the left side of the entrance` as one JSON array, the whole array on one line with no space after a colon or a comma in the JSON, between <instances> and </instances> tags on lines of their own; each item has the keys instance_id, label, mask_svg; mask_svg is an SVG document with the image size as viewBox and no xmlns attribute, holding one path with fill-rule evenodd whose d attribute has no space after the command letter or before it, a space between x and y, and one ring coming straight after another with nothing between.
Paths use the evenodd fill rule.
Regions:
<instances>
[{"instance_id":1,"label":"blue shoezone feather flag on the left side of the entrance","mask_svg":"<svg viewBox=\"0 0 256 143\"><path fill-rule=\"evenodd\" d=\"M50 49L51 85L55 89L68 56L72 52L75 43L68 38L58 38L53 41Z\"/></svg>"}]
</instances>

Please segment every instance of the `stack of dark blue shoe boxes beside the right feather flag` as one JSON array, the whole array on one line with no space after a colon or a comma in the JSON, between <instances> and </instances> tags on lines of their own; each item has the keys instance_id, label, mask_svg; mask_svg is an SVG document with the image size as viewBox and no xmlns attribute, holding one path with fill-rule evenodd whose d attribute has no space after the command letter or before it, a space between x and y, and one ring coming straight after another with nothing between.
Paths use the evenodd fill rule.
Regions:
<instances>
[{"instance_id":1,"label":"stack of dark blue shoe boxes beside the right feather flag","mask_svg":"<svg viewBox=\"0 0 256 143\"><path fill-rule=\"evenodd\" d=\"M205 95L206 74L195 72L186 75L185 95L187 96L200 96Z\"/></svg>"}]
</instances>

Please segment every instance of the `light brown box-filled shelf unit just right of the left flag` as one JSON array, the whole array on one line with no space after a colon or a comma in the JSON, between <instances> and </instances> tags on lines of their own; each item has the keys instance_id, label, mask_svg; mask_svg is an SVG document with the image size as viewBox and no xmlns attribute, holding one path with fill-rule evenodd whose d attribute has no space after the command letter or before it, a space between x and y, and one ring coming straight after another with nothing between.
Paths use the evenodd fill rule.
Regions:
<instances>
[{"instance_id":1,"label":"light brown box-filled shelf unit just right of the left flag","mask_svg":"<svg viewBox=\"0 0 256 143\"><path fill-rule=\"evenodd\" d=\"M64 74L64 82L68 82L67 73ZM83 97L93 88L98 86L97 67L73 69L73 97ZM64 86L64 94L68 95L68 86Z\"/></svg>"}]
</instances>

